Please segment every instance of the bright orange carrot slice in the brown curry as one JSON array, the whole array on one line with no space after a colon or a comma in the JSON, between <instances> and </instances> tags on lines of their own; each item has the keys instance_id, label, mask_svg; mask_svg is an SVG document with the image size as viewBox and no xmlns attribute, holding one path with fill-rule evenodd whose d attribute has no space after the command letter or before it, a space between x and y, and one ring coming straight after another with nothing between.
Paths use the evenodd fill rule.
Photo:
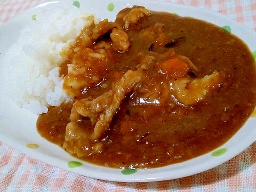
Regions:
<instances>
[{"instance_id":1,"label":"bright orange carrot slice in the brown curry","mask_svg":"<svg viewBox=\"0 0 256 192\"><path fill-rule=\"evenodd\" d=\"M168 59L159 65L160 73L171 77L184 77L187 75L189 65L178 58Z\"/></svg>"}]
</instances>

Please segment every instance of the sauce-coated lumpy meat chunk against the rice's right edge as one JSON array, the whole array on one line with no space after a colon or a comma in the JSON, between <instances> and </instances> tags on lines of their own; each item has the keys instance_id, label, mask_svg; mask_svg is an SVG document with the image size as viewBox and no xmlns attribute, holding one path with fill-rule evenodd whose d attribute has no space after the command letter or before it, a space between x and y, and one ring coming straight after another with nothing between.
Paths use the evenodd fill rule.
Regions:
<instances>
[{"instance_id":1,"label":"sauce-coated lumpy meat chunk against the rice's right edge","mask_svg":"<svg viewBox=\"0 0 256 192\"><path fill-rule=\"evenodd\" d=\"M67 95L75 97L81 94L85 87L94 86L103 79L102 71L108 70L108 52L86 47L74 54L71 64L68 64L68 74L64 77L63 89ZM101 63L101 65L93 65Z\"/></svg>"}]
</instances>

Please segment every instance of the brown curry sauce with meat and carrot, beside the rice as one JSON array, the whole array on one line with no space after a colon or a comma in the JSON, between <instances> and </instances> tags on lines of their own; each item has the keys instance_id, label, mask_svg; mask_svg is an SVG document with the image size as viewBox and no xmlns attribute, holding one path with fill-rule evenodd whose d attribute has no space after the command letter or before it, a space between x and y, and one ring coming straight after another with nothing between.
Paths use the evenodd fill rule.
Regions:
<instances>
[{"instance_id":1,"label":"brown curry sauce with meat and carrot, beside the rice","mask_svg":"<svg viewBox=\"0 0 256 192\"><path fill-rule=\"evenodd\" d=\"M49 107L37 130L86 162L145 169L186 161L225 143L255 107L251 52L202 20L134 6L114 22L91 18L61 54L73 100Z\"/></svg>"}]
</instances>

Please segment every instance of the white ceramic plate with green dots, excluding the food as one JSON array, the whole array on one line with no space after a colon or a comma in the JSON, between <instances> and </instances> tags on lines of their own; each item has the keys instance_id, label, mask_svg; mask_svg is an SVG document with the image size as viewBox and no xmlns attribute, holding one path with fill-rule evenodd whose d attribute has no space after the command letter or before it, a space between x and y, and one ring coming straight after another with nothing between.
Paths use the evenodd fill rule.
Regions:
<instances>
[{"instance_id":1,"label":"white ceramic plate with green dots, excluding the food","mask_svg":"<svg viewBox=\"0 0 256 192\"><path fill-rule=\"evenodd\" d=\"M155 11L175 12L181 16L189 16L198 19L203 19L214 23L220 27L229 26L231 32L245 41L250 50L256 50L256 34L249 28L246 28L238 23L224 17L221 14L188 7L175 5L163 2L148 2L148 1L53 1L41 4L33 9L23 12L19 17L0 27L0 61L4 51L10 47L12 43L17 41L19 31L27 22L31 22L32 15L42 9L51 9L59 7L61 4L77 6L77 9L82 9L86 12L97 14L101 19L108 18L114 20L117 12L124 7L132 5L143 5L147 9ZM74 4L74 5L73 5ZM8 39L8 40L6 40ZM255 53L255 52L254 52ZM0 62L0 65L2 63ZM1 67L1 66L0 66ZM3 72L0 72L3 77ZM0 89L3 93L4 83L0 82ZM141 182L141 181L159 181L167 179L176 179L196 174L212 167L218 166L237 154L241 153L245 148L249 147L256 139L256 118L250 117L241 130L239 130L233 138L218 149L211 151L208 154L199 156L189 161L164 166L156 169L147 170L121 170L101 167L86 162L81 164L71 163L71 165L80 165L71 168L68 162L81 162L74 157L71 157L60 147L41 138L36 131L37 116L29 111L18 108L5 94L0 94L0 140L18 149L31 157L51 165L60 167L67 171L75 172L91 178L110 180L110 181L126 181L126 182ZM28 143L36 143L39 148L31 149L27 147ZM70 165L70 164L69 164Z\"/></svg>"}]
</instances>

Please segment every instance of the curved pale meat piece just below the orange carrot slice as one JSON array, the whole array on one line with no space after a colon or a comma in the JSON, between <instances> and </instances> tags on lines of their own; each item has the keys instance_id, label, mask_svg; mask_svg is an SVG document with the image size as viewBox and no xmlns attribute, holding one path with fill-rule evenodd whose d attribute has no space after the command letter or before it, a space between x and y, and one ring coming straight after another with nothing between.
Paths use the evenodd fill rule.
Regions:
<instances>
[{"instance_id":1,"label":"curved pale meat piece just below the orange carrot slice","mask_svg":"<svg viewBox=\"0 0 256 192\"><path fill-rule=\"evenodd\" d=\"M180 78L170 83L175 98L184 105L193 105L205 98L206 94L221 86L223 75L214 71L203 78Z\"/></svg>"}]
</instances>

